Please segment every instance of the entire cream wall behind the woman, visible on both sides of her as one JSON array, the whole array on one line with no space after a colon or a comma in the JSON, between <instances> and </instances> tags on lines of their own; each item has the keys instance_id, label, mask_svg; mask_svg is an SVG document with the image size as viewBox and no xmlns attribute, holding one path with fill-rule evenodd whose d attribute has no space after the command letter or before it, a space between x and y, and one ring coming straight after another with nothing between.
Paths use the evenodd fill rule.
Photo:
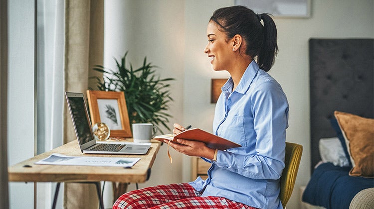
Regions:
<instances>
[{"instance_id":1,"label":"entire cream wall behind the woman, visible on both sides of her","mask_svg":"<svg viewBox=\"0 0 374 209\"><path fill-rule=\"evenodd\" d=\"M311 37L374 37L372 0L311 2L310 18L274 18L279 54L270 74L282 85L290 104L287 141L304 146L289 209L299 208L298 188L306 185L310 178L308 40ZM123 8L117 6L110 10L122 11L124 19L116 16L113 21L117 23L113 28L105 29L106 34L116 38L110 47L106 45L105 53L108 48L122 53L130 50L129 57L134 62L140 62L147 55L152 63L162 67L162 76L177 78L172 92L175 99L171 108L175 115L172 121L211 130L214 104L210 104L210 79L227 78L228 74L211 70L203 53L207 41L206 25L216 8L233 4L234 0L216 0L214 3L207 0L126 1ZM107 27L107 22L105 25ZM121 25L123 27L119 29ZM189 158L172 153L176 161L170 165L165 148L162 147L156 159L154 175L141 186L190 180ZM162 172L163 178L155 177L158 172Z\"/></svg>"}]
</instances>

